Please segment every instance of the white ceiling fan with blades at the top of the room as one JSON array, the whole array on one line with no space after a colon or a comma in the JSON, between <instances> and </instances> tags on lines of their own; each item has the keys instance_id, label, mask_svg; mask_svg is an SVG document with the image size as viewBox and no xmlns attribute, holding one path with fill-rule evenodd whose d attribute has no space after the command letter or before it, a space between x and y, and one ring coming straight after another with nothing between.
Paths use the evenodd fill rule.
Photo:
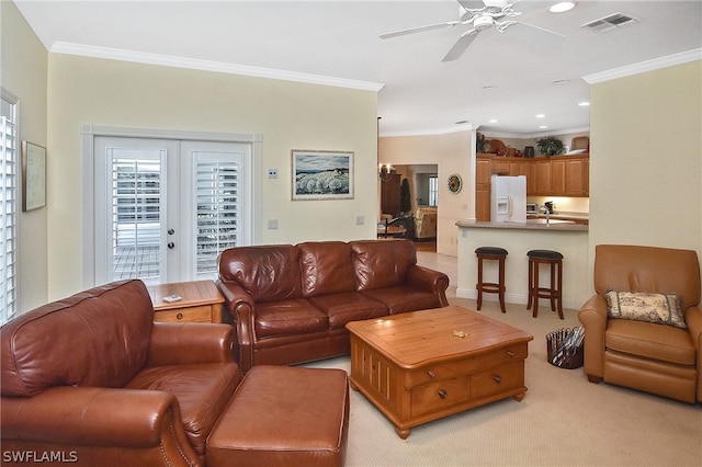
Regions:
<instances>
[{"instance_id":1,"label":"white ceiling fan with blades at the top of the room","mask_svg":"<svg viewBox=\"0 0 702 467\"><path fill-rule=\"evenodd\" d=\"M471 43L477 37L477 35L490 27L503 33L509 26L513 24L522 24L524 26L533 27L541 32L553 34L564 37L563 34L555 33L553 31L545 30L543 27L534 26L533 24L522 23L514 21L512 18L519 16L522 13L514 11L513 7L521 0L484 0L484 1L458 1L458 14L460 18L455 21L446 21L443 23L427 24L423 26L409 27L407 30L393 31L389 33L381 34L381 38L397 37L405 34L420 33L423 31L431 31L444 27L453 27L457 25L468 24L471 29L463 34L451 47L451 50L443 57L441 61L452 61L460 58L463 53L468 48Z\"/></svg>"}]
</instances>

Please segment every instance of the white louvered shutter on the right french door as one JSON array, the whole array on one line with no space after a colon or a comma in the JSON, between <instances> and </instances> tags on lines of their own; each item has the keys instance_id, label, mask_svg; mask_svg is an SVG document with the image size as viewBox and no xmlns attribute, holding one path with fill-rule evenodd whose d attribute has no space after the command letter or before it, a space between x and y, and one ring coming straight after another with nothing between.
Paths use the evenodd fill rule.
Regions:
<instances>
[{"instance_id":1,"label":"white louvered shutter on the right french door","mask_svg":"<svg viewBox=\"0 0 702 467\"><path fill-rule=\"evenodd\" d=\"M231 153L199 153L195 169L196 271L217 276L219 253L239 244L241 161Z\"/></svg>"}]
</instances>

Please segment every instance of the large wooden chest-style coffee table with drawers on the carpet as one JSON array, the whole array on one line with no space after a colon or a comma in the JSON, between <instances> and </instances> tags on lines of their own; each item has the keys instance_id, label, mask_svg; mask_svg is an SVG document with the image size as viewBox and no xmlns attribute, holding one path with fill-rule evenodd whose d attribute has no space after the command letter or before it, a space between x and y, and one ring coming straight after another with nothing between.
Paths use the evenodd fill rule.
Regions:
<instances>
[{"instance_id":1,"label":"large wooden chest-style coffee table with drawers on the carpet","mask_svg":"<svg viewBox=\"0 0 702 467\"><path fill-rule=\"evenodd\" d=\"M533 339L450 306L349 322L351 388L405 440L410 429L496 400L521 401Z\"/></svg>"}]
</instances>

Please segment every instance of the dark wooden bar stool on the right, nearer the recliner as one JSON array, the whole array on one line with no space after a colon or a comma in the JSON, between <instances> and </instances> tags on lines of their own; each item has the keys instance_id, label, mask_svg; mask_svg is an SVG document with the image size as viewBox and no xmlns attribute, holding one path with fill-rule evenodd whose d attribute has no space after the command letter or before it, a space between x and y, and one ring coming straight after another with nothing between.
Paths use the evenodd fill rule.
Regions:
<instances>
[{"instance_id":1,"label":"dark wooden bar stool on the right, nearer the recliner","mask_svg":"<svg viewBox=\"0 0 702 467\"><path fill-rule=\"evenodd\" d=\"M563 303L561 289L563 287L563 254L553 250L530 250L529 257L529 303L526 309L534 306L533 317L539 314L539 298L551 300L551 310L558 311L558 317L563 319ZM540 287L539 267L547 264L551 267L551 287Z\"/></svg>"}]
</instances>

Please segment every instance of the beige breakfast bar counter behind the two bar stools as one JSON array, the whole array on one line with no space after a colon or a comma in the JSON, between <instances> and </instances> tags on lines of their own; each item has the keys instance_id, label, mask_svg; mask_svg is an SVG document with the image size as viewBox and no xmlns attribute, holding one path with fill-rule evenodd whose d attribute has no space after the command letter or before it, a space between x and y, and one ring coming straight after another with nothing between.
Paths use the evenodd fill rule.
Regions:
<instances>
[{"instance_id":1,"label":"beige breakfast bar counter behind the two bar stools","mask_svg":"<svg viewBox=\"0 0 702 467\"><path fill-rule=\"evenodd\" d=\"M556 250L563 260L563 306L579 309L588 299L588 226L571 221L529 219L526 223L458 220L458 275L456 296L476 298L477 263L475 249L499 247L509 254L505 262L506 301L524 304L529 299L529 250ZM497 265L486 264L484 275L497 277ZM547 274L544 271L544 274ZM544 276L544 278L547 276ZM486 297L486 299L497 299Z\"/></svg>"}]
</instances>

